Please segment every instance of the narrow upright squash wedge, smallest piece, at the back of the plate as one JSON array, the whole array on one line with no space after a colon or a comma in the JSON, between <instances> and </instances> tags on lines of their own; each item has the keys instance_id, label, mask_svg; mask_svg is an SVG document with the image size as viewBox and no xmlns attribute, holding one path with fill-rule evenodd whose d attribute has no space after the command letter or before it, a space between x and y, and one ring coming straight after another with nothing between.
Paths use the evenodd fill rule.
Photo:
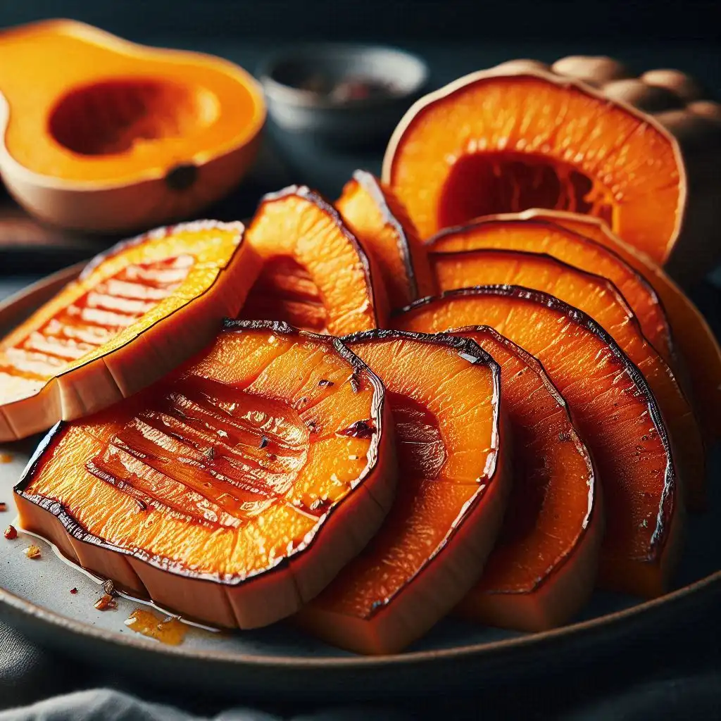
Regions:
<instances>
[{"instance_id":1,"label":"narrow upright squash wedge, smallest piece, at the back of the plate","mask_svg":"<svg viewBox=\"0 0 721 721\"><path fill-rule=\"evenodd\" d=\"M433 275L415 226L393 191L356 170L335 207L378 262L392 308L435 293Z\"/></svg>"}]
</instances>

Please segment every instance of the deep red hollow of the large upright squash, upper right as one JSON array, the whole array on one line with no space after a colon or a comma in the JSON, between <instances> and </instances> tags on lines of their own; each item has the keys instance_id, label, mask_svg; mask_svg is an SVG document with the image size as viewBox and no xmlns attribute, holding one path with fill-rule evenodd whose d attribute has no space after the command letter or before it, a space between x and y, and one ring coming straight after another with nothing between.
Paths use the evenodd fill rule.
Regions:
<instances>
[{"instance_id":1,"label":"deep red hollow of the large upright squash, upper right","mask_svg":"<svg viewBox=\"0 0 721 721\"><path fill-rule=\"evenodd\" d=\"M438 226L528 208L583 213L609 225L614 213L611 192L569 163L526 153L477 153L459 158L448 173Z\"/></svg>"}]
</instances>

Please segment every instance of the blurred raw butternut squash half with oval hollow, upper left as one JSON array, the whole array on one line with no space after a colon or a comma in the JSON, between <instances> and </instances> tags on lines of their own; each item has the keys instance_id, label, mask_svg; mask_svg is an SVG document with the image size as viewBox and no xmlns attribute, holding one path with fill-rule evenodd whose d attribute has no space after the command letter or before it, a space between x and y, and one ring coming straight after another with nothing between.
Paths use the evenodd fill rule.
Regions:
<instances>
[{"instance_id":1,"label":"blurred raw butternut squash half with oval hollow, upper left","mask_svg":"<svg viewBox=\"0 0 721 721\"><path fill-rule=\"evenodd\" d=\"M221 58L72 20L0 32L0 172L55 225L119 232L192 217L247 172L264 122L260 87Z\"/></svg>"}]
</instances>

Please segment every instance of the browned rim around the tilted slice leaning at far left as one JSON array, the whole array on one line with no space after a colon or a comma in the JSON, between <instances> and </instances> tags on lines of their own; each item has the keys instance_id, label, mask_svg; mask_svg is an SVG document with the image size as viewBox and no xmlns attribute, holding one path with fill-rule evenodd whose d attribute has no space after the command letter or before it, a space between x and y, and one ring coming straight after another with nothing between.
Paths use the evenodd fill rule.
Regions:
<instances>
[{"instance_id":1,"label":"browned rim around the tilted slice leaning at far left","mask_svg":"<svg viewBox=\"0 0 721 721\"><path fill-rule=\"evenodd\" d=\"M41 393L43 393L46 389L48 389L48 386L55 383L58 379L63 378L63 376L68 376L71 373L75 373L76 371L79 371L80 368L83 368L84 366L87 366L88 363L94 363L96 361L99 361L101 359L105 359L107 355L112 355L112 353L117 353L119 350L122 350L123 348L126 348L131 343L135 342L136 338L141 337L141 335L146 335L146 333L150 332L154 328L158 327L160 324L165 322L168 318L172 318L175 314L182 312L189 306L191 303L195 303L195 301L198 301L198 298L203 298L203 296L207 295L207 293L210 293L210 291L216 286L216 283L218 283L218 280L221 279L223 273L225 272L226 268L233 262L234 258L236 257L236 254L240 252L243 245L247 242L245 239L245 226L240 221L234 221L232 223L222 223L221 221L192 221L190 223L180 223L177 225L171 225L171 226L161 226L160 228L156 228L152 231L149 231L147 233L143 233L141 235L135 236L134 238L130 238L128 240L122 240L119 243L116 243L111 248L107 249L105 252L100 253L99 255L92 258L92 260L89 260L87 265L80 271L79 275L75 279L71 279L68 281L68 283L73 283L74 280L86 280L91 273L99 267L99 265L102 264L102 262L105 262L105 260L109 260L111 257L114 257L115 255L118 255L119 253L122 253L125 250L131 249L133 247L136 247L138 245L142 245L143 242L148 242L155 239L162 239L166 238L168 236L171 236L174 232L177 231L194 231L194 230L203 230L203 229L212 229L212 228L222 228L222 229L231 229L231 230L237 230L239 235L241 236L240 242L236 245L234 251L232 254L228 257L228 260L226 262L226 265L224 267L221 267L218 269L218 275L216 275L216 279L213 280L213 283L211 283L208 288L205 288L205 290L202 293L198 293L197 296L194 296L186 303L182 304L179 308L176 308L174 311L171 311L167 315L164 315L162 318L156 320L156 322L151 323L148 327L143 328L140 332L138 332L136 335L134 335L128 342L124 343L123 345L119 345L118 348L113 348L109 353L103 353L102 355L97 355L94 358L92 358L90 361L86 361L85 363L79 363L79 365L74 365L72 368L70 368L68 371L63 371L63 373L58 373L57 375L53 376L52 378L48 379L48 381L45 382L43 387L39 389L36 393L33 393L30 396L27 396L25 398L20 398L17 401L12 401L10 403L4 403L0 404L0 413L5 416L5 419L9 425L10 428L13 429L13 432L15 432L14 425L12 424L12 421L10 420L9 415L6 414L5 410L14 407L15 405L23 404L27 402L27 399L37 397ZM58 293L56 293L56 296L59 293L63 292L63 288L61 288ZM55 298L56 296L53 296ZM50 298L46 303L49 303L53 300L53 298ZM28 319L29 320L29 319ZM138 318L138 321L140 318ZM26 321L24 321L25 323ZM12 332L12 330L10 331ZM184 359L185 360L185 359ZM103 362L105 362L103 360ZM152 375L152 374L151 374ZM112 377L113 381L115 381L115 376L112 376L112 373L110 373L110 376ZM143 388L146 388L150 385L151 382L159 380L158 378L154 378L150 382L143 383L141 386L138 386L138 390L141 390ZM117 381L115 381L117 384ZM123 392L120 391L120 388L118 388L118 393L120 393L121 397L125 397ZM16 433L17 435L17 433Z\"/></svg>"}]
</instances>

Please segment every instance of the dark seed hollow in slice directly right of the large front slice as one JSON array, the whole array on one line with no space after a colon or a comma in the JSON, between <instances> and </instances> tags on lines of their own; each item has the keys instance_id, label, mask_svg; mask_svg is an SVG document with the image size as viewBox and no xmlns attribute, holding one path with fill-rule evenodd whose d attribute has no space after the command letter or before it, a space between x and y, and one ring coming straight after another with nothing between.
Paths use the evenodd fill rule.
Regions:
<instances>
[{"instance_id":1,"label":"dark seed hollow in slice directly right of the large front slice","mask_svg":"<svg viewBox=\"0 0 721 721\"><path fill-rule=\"evenodd\" d=\"M433 479L446 463L446 445L438 418L427 407L405 395L386 392L396 431L398 467L404 474Z\"/></svg>"}]
</instances>

